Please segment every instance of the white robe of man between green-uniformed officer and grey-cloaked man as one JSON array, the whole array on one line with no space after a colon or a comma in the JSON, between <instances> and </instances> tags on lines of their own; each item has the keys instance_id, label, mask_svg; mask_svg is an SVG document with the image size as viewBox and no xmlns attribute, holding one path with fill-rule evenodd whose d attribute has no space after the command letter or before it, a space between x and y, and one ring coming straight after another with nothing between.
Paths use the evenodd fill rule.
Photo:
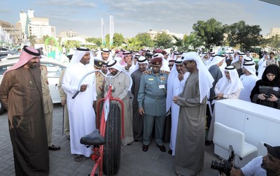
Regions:
<instances>
[{"instance_id":1,"label":"white robe of man between green-uniformed officer and grey-cloaked man","mask_svg":"<svg viewBox=\"0 0 280 176\"><path fill-rule=\"evenodd\" d=\"M175 78L174 79L174 82L173 82L173 85L172 85L172 97L177 96L177 95L179 95L182 92L183 87L185 86L185 82L186 82L189 74L190 74L189 72L186 72L184 74L184 78L183 78L182 81L180 81L179 78ZM171 111L171 117L172 117L171 124L172 124L172 126L171 126L169 147L170 147L170 149L172 149L172 156L175 156L176 135L177 135L177 126L178 126L180 106L176 105L172 101L171 109L172 109L172 111Z\"/></svg>"}]
</instances>

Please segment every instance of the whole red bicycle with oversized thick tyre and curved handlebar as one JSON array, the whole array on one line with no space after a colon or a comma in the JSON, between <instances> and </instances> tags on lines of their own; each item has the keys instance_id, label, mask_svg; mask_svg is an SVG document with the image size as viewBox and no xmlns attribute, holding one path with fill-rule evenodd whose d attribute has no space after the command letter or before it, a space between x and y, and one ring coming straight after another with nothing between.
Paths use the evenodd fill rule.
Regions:
<instances>
[{"instance_id":1,"label":"whole red bicycle with oversized thick tyre and curved handlebar","mask_svg":"<svg viewBox=\"0 0 280 176\"><path fill-rule=\"evenodd\" d=\"M78 87L80 87L85 77L95 72L102 73L101 71L90 71L83 76ZM123 73L127 74L130 78L130 86L128 89L128 94L130 95L129 90L132 87L132 78L127 72L123 71ZM120 74L120 72L118 72L118 74ZM106 97L102 98L97 103L97 129L80 138L81 144L85 145L85 147L92 147L90 159L95 163L90 176L102 176L103 173L105 175L116 175L120 169L120 139L123 138L125 132L124 105L120 98L114 98L112 96L112 92L115 91L116 88L111 85L111 79L116 78L118 74L115 76L107 76L102 73L104 78L109 80L109 85L106 87ZM72 98L75 98L78 93L79 91L77 91ZM121 111L116 102L120 103ZM99 110L102 103L104 105L100 118ZM98 168L99 172L97 173Z\"/></svg>"}]
</instances>

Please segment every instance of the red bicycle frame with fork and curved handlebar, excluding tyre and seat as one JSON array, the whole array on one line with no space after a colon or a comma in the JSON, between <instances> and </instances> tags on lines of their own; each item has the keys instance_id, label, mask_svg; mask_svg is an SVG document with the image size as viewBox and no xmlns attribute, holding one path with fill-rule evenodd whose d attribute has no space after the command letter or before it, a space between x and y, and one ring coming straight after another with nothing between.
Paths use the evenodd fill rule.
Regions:
<instances>
[{"instance_id":1,"label":"red bicycle frame with fork and curved handlebar, excluding tyre and seat","mask_svg":"<svg viewBox=\"0 0 280 176\"><path fill-rule=\"evenodd\" d=\"M89 73L86 73L83 78L80 80L79 82L79 85L78 85L78 91L76 92L76 94L73 95L72 98L75 98L78 93L80 92L79 91L79 88L80 88L80 85L82 84L83 80L85 79L85 77L87 77L87 75L90 75L92 73L95 73L95 72L99 72L99 73L102 73L101 71L97 70L97 71L90 71ZM126 75L129 76L130 78L130 87L129 87L129 90L131 89L132 87L132 78L130 77L130 75L123 71L123 73L125 73ZM121 105L121 116L122 116L122 131L121 131L121 135L120 135L120 138L123 138L124 137L124 133L125 133L125 130L124 130L124 126L125 126L125 120L124 120L124 104L123 104L123 101L120 100L120 98L113 98L112 97L112 85L111 85L111 78L116 78L118 75L120 74L120 72L118 72L117 75L115 76L106 76L104 75L104 73L102 73L102 75L104 75L105 78L109 78L109 91L106 95L105 98L102 98L98 101L97 103L97 129L99 129L100 131L100 135L102 135L104 138L105 138L105 131L106 131L106 120L105 120L105 108L106 108L106 102L105 101L118 101L120 102L120 105ZM95 80L94 80L95 81ZM128 94L130 96L130 91L128 91ZM131 98L131 96L130 96ZM99 123L99 107L102 103L102 101L104 101L104 105L103 105L103 108L102 108L102 117L100 119L100 123ZM99 126L100 124L100 126ZM102 176L103 175L103 154L104 154L104 145L100 145L100 146L94 146L92 147L92 151L93 151L93 154L90 155L90 158L92 160L95 161L94 163L94 167L92 168L92 172L90 173L90 176L94 176L94 174L96 173L97 171L97 168L99 166L99 175Z\"/></svg>"}]
</instances>

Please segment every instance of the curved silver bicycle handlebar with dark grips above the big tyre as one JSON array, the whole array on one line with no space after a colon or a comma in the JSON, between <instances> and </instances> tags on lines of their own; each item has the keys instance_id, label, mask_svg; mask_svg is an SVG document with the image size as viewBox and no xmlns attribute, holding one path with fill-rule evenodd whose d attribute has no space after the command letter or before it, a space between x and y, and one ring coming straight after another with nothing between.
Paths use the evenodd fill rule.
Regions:
<instances>
[{"instance_id":1,"label":"curved silver bicycle handlebar with dark grips above the big tyre","mask_svg":"<svg viewBox=\"0 0 280 176\"><path fill-rule=\"evenodd\" d=\"M116 77L120 74L120 72L125 73L125 74L128 76L128 78L130 78L130 86L128 87L128 96L129 96L130 98L132 98L132 96L131 96L131 94L130 94L130 89L132 88L132 78L131 78L131 76L130 76L129 73L127 73L126 71L119 71L119 72L117 73L117 75L108 76L108 75L105 75L104 73L102 73L102 71L99 71L99 70L90 71L90 72L87 72L85 75L83 75L83 78L80 79L80 82L79 82L79 84L78 84L78 91L76 91L76 93L72 96L72 98L75 98L75 97L80 93L80 85L82 85L82 82L83 82L83 80L85 79L85 77L87 77L88 75L90 75L90 74L92 74L92 73L95 73L95 72L99 72L99 73L101 73L105 78L109 78L109 85L111 85L111 78L116 78ZM94 80L94 81L95 81L95 80Z\"/></svg>"}]
</instances>

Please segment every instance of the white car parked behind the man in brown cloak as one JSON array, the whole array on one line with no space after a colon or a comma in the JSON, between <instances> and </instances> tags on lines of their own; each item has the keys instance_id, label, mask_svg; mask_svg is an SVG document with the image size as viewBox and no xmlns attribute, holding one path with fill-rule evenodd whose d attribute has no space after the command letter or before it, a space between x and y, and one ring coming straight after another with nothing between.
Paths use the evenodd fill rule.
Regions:
<instances>
[{"instance_id":1,"label":"white car parked behind the man in brown cloak","mask_svg":"<svg viewBox=\"0 0 280 176\"><path fill-rule=\"evenodd\" d=\"M3 78L3 73L13 66L13 64L17 63L19 59L18 57L13 56L13 59L2 59L0 61L0 83ZM62 70L66 68L66 64L62 64L55 59L50 58L41 58L41 64L47 66L48 69L48 87L50 88L50 96L52 97L52 103L60 103L61 99L59 96L59 91L57 89L57 85L59 82L59 76ZM0 115L5 111L5 108L0 103Z\"/></svg>"}]
</instances>

